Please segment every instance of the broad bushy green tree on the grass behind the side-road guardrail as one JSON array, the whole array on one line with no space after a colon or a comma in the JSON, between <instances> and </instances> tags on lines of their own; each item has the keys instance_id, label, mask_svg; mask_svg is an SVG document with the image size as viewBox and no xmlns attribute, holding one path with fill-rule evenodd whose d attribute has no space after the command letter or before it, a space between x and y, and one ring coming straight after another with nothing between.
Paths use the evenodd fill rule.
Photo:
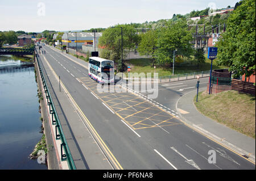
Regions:
<instances>
[{"instance_id":1,"label":"broad bushy green tree on the grass behind the side-road guardrail","mask_svg":"<svg viewBox=\"0 0 256 181\"><path fill-rule=\"evenodd\" d=\"M155 57L159 64L171 63L174 50L177 50L176 55L191 56L192 35L188 31L185 20L179 19L175 23L166 22L164 27L158 29L157 36Z\"/></svg>"}]
</instances>

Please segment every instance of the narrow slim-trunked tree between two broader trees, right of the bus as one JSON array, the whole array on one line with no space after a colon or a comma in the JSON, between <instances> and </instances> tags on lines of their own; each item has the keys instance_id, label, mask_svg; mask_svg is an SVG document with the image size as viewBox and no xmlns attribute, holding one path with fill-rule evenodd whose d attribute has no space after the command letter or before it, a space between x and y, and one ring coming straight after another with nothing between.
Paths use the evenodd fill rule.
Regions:
<instances>
[{"instance_id":1,"label":"narrow slim-trunked tree between two broader trees, right of the bus","mask_svg":"<svg viewBox=\"0 0 256 181\"><path fill-rule=\"evenodd\" d=\"M138 52L141 55L152 56L153 58L152 66L154 66L157 33L155 30L150 30L146 33L141 33L140 37L141 37L141 42L138 45Z\"/></svg>"}]
</instances>

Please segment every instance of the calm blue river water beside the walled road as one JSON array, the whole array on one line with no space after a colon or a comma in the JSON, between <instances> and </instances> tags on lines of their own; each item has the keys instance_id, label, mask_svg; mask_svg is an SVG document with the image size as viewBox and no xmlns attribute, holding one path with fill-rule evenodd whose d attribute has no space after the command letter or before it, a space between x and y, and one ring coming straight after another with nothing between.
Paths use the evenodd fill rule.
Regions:
<instances>
[{"instance_id":1,"label":"calm blue river water beside the walled road","mask_svg":"<svg viewBox=\"0 0 256 181\"><path fill-rule=\"evenodd\" d=\"M42 137L37 90L33 64L0 56L0 169L47 169L29 158Z\"/></svg>"}]
</instances>

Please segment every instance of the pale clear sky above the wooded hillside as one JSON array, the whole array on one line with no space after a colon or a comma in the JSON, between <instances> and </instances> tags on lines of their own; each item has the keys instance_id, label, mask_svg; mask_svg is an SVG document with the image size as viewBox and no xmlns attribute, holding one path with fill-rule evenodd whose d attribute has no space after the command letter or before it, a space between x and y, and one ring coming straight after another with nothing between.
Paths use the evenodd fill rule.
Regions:
<instances>
[{"instance_id":1,"label":"pale clear sky above the wooded hillside","mask_svg":"<svg viewBox=\"0 0 256 181\"><path fill-rule=\"evenodd\" d=\"M1 0L0 31L42 32L108 28L115 24L171 19L208 6L234 7L240 0Z\"/></svg>"}]
</instances>

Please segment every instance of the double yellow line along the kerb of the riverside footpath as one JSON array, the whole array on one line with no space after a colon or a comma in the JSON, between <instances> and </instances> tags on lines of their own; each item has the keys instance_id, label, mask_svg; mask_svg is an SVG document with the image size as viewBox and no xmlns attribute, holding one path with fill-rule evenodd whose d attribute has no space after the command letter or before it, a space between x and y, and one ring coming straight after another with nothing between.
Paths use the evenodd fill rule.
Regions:
<instances>
[{"instance_id":1,"label":"double yellow line along the kerb of the riverside footpath","mask_svg":"<svg viewBox=\"0 0 256 181\"><path fill-rule=\"evenodd\" d=\"M49 66L49 68L52 70L53 74L55 75L55 78L57 80L59 80L59 77L57 76L57 74L55 73L55 71L52 69L52 66L49 65L49 62L46 60L46 58L44 57L44 60L46 61L47 65ZM71 94L69 94L68 90L66 89L66 87L64 86L64 84L60 81L61 86L63 87L64 91L68 94L69 99L71 99L71 102L74 104L74 106L77 108L77 111L79 111L80 115L82 116L82 119L85 121L86 125L88 126L90 132L93 134L94 138L96 138L98 144L101 145L101 148L104 150L104 152L106 153L106 155L108 155L108 158L112 161L112 163L115 166L115 169L118 170L123 170L122 166L120 165L120 163L117 161L117 159L114 157L114 155L112 154L112 152L109 150L108 146L106 146L105 142L102 140L102 138L100 137L100 135L97 133L97 131L93 128L93 125L90 123L90 121L87 119L87 117L84 115L84 112L82 112L81 108L77 105L77 103L75 102L75 100L72 98Z\"/></svg>"}]
</instances>

